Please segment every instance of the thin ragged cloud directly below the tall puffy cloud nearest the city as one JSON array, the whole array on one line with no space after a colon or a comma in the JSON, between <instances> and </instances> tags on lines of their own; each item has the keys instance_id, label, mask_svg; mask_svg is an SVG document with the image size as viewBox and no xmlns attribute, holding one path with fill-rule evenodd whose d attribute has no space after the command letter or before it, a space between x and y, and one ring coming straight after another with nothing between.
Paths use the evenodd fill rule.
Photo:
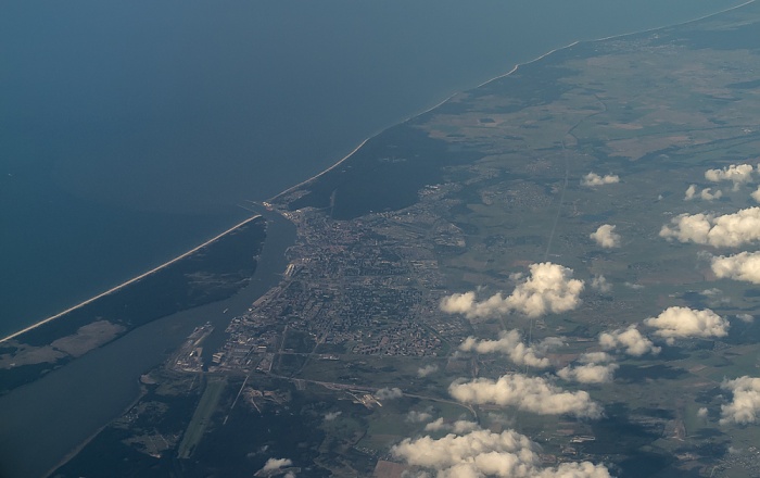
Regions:
<instances>
[{"instance_id":1,"label":"thin ragged cloud directly below the tall puffy cloud nearest the city","mask_svg":"<svg viewBox=\"0 0 760 478\"><path fill-rule=\"evenodd\" d=\"M546 368L552 364L543 355L548 349L561 344L561 339L548 337L535 345L528 347L522 342L519 331L509 330L501 332L498 340L477 340L474 337L468 337L459 345L459 350L463 352L503 353L509 356L515 365Z\"/></svg>"}]
</instances>

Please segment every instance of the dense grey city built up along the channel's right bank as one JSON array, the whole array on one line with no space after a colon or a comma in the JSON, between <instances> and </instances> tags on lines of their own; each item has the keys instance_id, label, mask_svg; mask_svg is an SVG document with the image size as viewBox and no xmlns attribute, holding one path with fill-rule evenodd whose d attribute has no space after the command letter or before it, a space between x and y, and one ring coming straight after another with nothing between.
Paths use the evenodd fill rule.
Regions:
<instances>
[{"instance_id":1,"label":"dense grey city built up along the channel's right bank","mask_svg":"<svg viewBox=\"0 0 760 478\"><path fill-rule=\"evenodd\" d=\"M236 317L214 355L219 370L270 370L279 353L436 356L469 325L443 314L447 293L435 256L466 247L465 235L440 221L447 186L429 187L398 212L353 221L325 211L284 213L295 223L282 281ZM309 337L312 350L284 347L287 334Z\"/></svg>"}]
</instances>

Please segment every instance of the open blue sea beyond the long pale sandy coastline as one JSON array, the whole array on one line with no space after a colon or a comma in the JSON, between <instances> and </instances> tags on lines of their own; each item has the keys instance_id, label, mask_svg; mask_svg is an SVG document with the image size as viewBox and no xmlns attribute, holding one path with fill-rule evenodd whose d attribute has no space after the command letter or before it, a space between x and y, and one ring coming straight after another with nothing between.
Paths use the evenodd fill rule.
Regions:
<instances>
[{"instance_id":1,"label":"open blue sea beyond the long pale sandy coastline","mask_svg":"<svg viewBox=\"0 0 760 478\"><path fill-rule=\"evenodd\" d=\"M0 336L574 40L729 0L0 4Z\"/></svg>"}]
</instances>

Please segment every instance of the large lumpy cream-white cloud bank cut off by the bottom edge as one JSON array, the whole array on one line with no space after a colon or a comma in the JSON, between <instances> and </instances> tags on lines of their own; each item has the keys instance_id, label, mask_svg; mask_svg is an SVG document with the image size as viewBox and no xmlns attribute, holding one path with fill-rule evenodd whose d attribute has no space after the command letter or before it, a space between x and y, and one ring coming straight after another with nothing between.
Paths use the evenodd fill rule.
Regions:
<instances>
[{"instance_id":1,"label":"large lumpy cream-white cloud bank cut off by the bottom edge","mask_svg":"<svg viewBox=\"0 0 760 478\"><path fill-rule=\"evenodd\" d=\"M494 433L474 429L465 435L449 433L439 439L405 439L391 453L411 466L435 473L436 478L532 477L609 478L604 465L591 462L562 463L543 468L537 446L514 430ZM427 473L416 475L430 476Z\"/></svg>"}]
</instances>

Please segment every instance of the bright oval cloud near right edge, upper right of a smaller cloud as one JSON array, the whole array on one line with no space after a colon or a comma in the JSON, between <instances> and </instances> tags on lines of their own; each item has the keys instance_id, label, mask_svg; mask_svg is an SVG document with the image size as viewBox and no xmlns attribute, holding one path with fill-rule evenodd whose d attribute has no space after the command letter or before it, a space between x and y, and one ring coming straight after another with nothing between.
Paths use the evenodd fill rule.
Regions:
<instances>
[{"instance_id":1,"label":"bright oval cloud near right edge, upper right of a smaller cloud","mask_svg":"<svg viewBox=\"0 0 760 478\"><path fill-rule=\"evenodd\" d=\"M709 309L697 311L677 306L645 319L644 324L658 329L655 334L664 337L668 343L676 338L725 337L730 326L729 320Z\"/></svg>"}]
</instances>

